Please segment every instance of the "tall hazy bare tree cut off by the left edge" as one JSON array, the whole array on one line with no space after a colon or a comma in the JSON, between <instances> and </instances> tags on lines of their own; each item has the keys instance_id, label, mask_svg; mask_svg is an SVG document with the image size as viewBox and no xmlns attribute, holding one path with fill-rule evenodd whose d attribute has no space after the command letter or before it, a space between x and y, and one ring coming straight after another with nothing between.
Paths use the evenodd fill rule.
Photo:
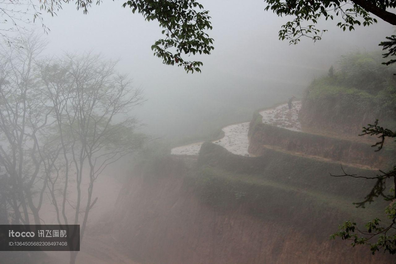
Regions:
<instances>
[{"instance_id":1,"label":"tall hazy bare tree cut off by the left edge","mask_svg":"<svg viewBox=\"0 0 396 264\"><path fill-rule=\"evenodd\" d=\"M22 43L25 48L3 46L0 54L0 168L7 188L2 193L13 212L11 222L29 224L32 214L40 224L46 179L37 137L48 125L50 109L42 104L32 68L45 44L33 35Z\"/></svg>"}]
</instances>

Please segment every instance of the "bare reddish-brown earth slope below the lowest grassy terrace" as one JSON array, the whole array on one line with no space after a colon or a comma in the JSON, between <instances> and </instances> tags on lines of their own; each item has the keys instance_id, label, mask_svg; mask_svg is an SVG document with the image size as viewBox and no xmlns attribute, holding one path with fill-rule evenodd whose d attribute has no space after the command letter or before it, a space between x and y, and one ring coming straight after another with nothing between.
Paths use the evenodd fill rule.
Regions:
<instances>
[{"instance_id":1,"label":"bare reddish-brown earth slope below the lowest grassy terrace","mask_svg":"<svg viewBox=\"0 0 396 264\"><path fill-rule=\"evenodd\" d=\"M239 180L214 176L215 182L208 182L206 174L191 176L191 171L201 171L197 168L167 157L150 172L138 172L122 189L113 233L133 259L164 264L392 263L385 255L371 256L367 248L329 241L328 232L342 217L332 207L323 210L297 191L265 186L263 192L258 185L248 189L256 186L263 194L259 200L266 202L253 202L254 191L234 194L234 188L244 185ZM205 183L213 192L202 192L208 190L201 188ZM222 197L227 204L217 202Z\"/></svg>"}]
</instances>

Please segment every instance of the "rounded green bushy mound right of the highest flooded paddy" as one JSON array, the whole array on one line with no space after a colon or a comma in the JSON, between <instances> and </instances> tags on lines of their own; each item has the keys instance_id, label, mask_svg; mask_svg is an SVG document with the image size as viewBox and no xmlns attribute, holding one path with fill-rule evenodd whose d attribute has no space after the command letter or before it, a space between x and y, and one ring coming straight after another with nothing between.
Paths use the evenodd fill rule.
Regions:
<instances>
[{"instance_id":1,"label":"rounded green bushy mound right of the highest flooded paddy","mask_svg":"<svg viewBox=\"0 0 396 264\"><path fill-rule=\"evenodd\" d=\"M382 65L382 61L377 53L342 56L336 69L331 67L328 75L307 88L306 105L315 105L322 118L334 124L360 122L356 125L361 130L367 122L379 119L382 125L394 128L396 67Z\"/></svg>"}]
</instances>

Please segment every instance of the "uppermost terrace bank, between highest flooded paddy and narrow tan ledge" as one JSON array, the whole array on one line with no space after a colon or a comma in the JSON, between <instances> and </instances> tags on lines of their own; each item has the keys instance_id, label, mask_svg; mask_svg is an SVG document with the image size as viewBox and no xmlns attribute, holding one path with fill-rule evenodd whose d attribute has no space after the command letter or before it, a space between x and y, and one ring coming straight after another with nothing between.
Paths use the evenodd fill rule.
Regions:
<instances>
[{"instance_id":1,"label":"uppermost terrace bank, between highest flooded paddy and narrow tan ledge","mask_svg":"<svg viewBox=\"0 0 396 264\"><path fill-rule=\"evenodd\" d=\"M267 151L266 145L280 147L286 151L295 151L329 159L343 164L371 168L387 168L392 165L396 151L385 146L375 152L370 143L346 140L320 134L296 132L263 124L261 115L256 111L249 127L249 153L261 156Z\"/></svg>"}]
</instances>

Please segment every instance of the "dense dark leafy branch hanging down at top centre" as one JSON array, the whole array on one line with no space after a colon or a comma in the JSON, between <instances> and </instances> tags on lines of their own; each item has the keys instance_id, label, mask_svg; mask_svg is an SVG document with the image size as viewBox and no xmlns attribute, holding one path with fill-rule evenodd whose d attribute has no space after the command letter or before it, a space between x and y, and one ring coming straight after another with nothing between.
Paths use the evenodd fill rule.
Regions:
<instances>
[{"instance_id":1,"label":"dense dark leafy branch hanging down at top centre","mask_svg":"<svg viewBox=\"0 0 396 264\"><path fill-rule=\"evenodd\" d=\"M40 9L52 16L62 8L63 3L72 0L50 0L41 2ZM95 2L96 5L100 0ZM77 10L88 13L92 0L76 0ZM136 11L147 21L158 21L163 29L164 38L156 40L151 46L154 55L161 58L166 65L178 65L185 71L201 72L201 61L187 59L190 55L210 54L214 49L213 38L206 31L211 30L209 11L196 0L128 0L122 6L129 6L132 13Z\"/></svg>"}]
</instances>

